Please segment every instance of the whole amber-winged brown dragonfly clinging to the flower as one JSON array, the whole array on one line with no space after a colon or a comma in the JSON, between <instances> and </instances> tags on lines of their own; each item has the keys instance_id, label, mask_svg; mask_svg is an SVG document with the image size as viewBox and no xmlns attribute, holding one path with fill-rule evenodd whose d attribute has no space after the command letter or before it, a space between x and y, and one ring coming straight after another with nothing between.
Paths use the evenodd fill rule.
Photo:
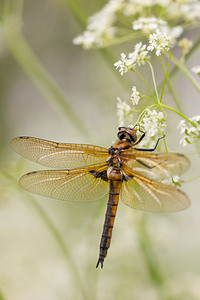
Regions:
<instances>
[{"instance_id":1,"label":"whole amber-winged brown dragonfly clinging to the flower","mask_svg":"<svg viewBox=\"0 0 200 300\"><path fill-rule=\"evenodd\" d=\"M110 247L119 197L131 208L151 212L179 211L190 205L183 191L161 182L187 171L189 159L179 153L153 153L161 138L153 149L135 147L145 137L145 132L139 131L138 138L135 127L119 127L118 140L110 148L28 136L11 141L11 147L21 156L57 168L23 175L19 184L25 190L74 202L108 196L96 267L103 268Z\"/></svg>"}]
</instances>

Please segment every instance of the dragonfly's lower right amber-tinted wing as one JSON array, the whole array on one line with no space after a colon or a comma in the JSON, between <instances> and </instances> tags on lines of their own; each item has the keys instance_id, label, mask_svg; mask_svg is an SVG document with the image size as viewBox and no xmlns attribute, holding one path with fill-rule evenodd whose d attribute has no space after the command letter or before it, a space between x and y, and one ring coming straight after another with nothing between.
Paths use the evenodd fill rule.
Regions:
<instances>
[{"instance_id":1,"label":"dragonfly's lower right amber-tinted wing","mask_svg":"<svg viewBox=\"0 0 200 300\"><path fill-rule=\"evenodd\" d=\"M190 205L188 196L181 190L145 178L130 169L124 169L129 176L122 183L122 201L135 209L170 212L183 210Z\"/></svg>"}]
</instances>

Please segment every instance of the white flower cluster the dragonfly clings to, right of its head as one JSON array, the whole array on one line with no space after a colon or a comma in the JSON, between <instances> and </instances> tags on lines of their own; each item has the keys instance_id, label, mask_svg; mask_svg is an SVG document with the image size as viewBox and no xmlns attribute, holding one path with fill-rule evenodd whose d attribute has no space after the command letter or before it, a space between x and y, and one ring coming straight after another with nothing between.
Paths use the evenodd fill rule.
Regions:
<instances>
[{"instance_id":1,"label":"white flower cluster the dragonfly clings to, right of its head","mask_svg":"<svg viewBox=\"0 0 200 300\"><path fill-rule=\"evenodd\" d=\"M162 135L166 128L165 116L163 112L157 112L156 110L146 109L145 115L140 123L146 136L153 138L158 135Z\"/></svg>"}]
</instances>

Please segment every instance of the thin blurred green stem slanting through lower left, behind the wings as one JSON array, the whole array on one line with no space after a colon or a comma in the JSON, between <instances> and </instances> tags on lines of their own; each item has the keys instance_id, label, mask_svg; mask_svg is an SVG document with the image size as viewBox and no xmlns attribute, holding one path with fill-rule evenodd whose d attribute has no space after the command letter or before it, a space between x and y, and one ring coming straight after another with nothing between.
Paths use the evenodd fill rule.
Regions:
<instances>
[{"instance_id":1,"label":"thin blurred green stem slanting through lower left, behind the wings","mask_svg":"<svg viewBox=\"0 0 200 300\"><path fill-rule=\"evenodd\" d=\"M17 190L19 190L18 185L16 184L15 179L13 179L10 174L7 172L1 171L1 174L9 181L11 181L12 186L15 186ZM81 294L85 300L88 300L88 295L86 293L85 287L83 285L82 279L80 277L78 268L74 262L73 257L70 255L69 247L67 246L66 242L64 242L62 235L59 233L56 226L53 224L51 219L48 217L46 212L43 210L43 208L36 202L34 197L26 193L26 196L23 197L25 199L25 203L28 205L31 205L31 207L35 210L41 221L44 223L46 228L49 230L51 236L56 241L58 247L60 248L61 253L63 254L65 261L67 263L67 267L70 266L72 270L72 274L74 276L74 282L77 287L80 288ZM0 298L1 300L1 298Z\"/></svg>"}]
</instances>

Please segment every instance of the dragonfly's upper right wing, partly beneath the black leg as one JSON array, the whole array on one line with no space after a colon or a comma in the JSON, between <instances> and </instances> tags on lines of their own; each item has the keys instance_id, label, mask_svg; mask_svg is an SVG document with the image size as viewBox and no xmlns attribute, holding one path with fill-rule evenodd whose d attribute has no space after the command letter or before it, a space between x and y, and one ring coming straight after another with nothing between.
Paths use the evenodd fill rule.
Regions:
<instances>
[{"instance_id":1,"label":"dragonfly's upper right wing, partly beneath the black leg","mask_svg":"<svg viewBox=\"0 0 200 300\"><path fill-rule=\"evenodd\" d=\"M121 154L125 164L142 176L160 181L181 175L190 166L189 159L178 153L154 154L144 151L124 151Z\"/></svg>"}]
</instances>

